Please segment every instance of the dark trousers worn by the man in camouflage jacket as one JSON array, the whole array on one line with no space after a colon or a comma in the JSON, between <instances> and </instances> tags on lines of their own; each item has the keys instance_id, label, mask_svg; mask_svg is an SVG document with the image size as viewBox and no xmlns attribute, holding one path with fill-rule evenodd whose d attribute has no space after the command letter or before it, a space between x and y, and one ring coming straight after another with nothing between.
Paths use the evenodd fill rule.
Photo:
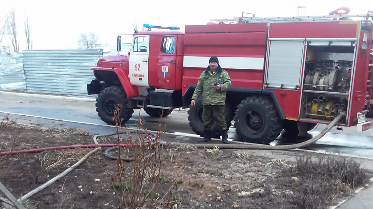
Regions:
<instances>
[{"instance_id":1,"label":"dark trousers worn by the man in camouflage jacket","mask_svg":"<svg viewBox=\"0 0 373 209\"><path fill-rule=\"evenodd\" d=\"M215 120L220 130L227 130L227 123L225 122L225 105L203 105L202 121L203 129L211 130L213 120Z\"/></svg>"}]
</instances>

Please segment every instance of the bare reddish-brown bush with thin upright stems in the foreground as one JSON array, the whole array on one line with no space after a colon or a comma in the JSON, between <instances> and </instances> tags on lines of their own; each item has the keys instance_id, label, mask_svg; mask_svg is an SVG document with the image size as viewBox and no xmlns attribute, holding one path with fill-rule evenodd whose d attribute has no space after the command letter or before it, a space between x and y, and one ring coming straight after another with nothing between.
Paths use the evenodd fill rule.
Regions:
<instances>
[{"instance_id":1,"label":"bare reddish-brown bush with thin upright stems in the foreground","mask_svg":"<svg viewBox=\"0 0 373 209\"><path fill-rule=\"evenodd\" d=\"M128 144L125 149L119 149L125 155L131 156L131 165L124 165L123 159L117 159L118 172L115 175L109 175L112 188L118 197L121 206L142 207L147 205L150 208L154 200L157 200L158 194L155 193L158 180L162 174L163 151L160 148L159 129L155 137L145 134L141 130L144 120L139 118L137 123L136 138L131 136L128 130L125 130L124 138L119 137L123 132L121 128L122 119L118 117L119 107L115 111L115 120L117 127L117 144L124 142ZM162 120L162 119L161 119ZM161 127L161 123L159 123Z\"/></svg>"}]
</instances>

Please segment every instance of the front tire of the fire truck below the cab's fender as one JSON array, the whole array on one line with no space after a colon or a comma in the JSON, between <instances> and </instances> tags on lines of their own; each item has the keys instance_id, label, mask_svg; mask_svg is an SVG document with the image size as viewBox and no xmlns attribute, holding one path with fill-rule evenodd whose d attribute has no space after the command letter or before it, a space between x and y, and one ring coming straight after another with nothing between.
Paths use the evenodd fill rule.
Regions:
<instances>
[{"instance_id":1,"label":"front tire of the fire truck below the cab's fender","mask_svg":"<svg viewBox=\"0 0 373 209\"><path fill-rule=\"evenodd\" d=\"M115 104L121 104L119 118L123 118L122 124L132 117L134 110L127 108L127 96L123 88L119 86L109 86L102 90L96 99L96 111L98 116L107 124L115 125L113 121Z\"/></svg>"}]
</instances>

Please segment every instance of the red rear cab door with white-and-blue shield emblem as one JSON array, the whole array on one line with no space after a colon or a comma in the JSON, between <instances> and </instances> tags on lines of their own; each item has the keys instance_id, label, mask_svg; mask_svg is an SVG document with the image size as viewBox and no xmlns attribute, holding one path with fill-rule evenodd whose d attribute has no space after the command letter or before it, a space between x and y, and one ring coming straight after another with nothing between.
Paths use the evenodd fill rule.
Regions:
<instances>
[{"instance_id":1,"label":"red rear cab door with white-and-blue shield emblem","mask_svg":"<svg viewBox=\"0 0 373 209\"><path fill-rule=\"evenodd\" d=\"M176 35L162 37L158 55L158 86L163 89L176 89Z\"/></svg>"}]
</instances>

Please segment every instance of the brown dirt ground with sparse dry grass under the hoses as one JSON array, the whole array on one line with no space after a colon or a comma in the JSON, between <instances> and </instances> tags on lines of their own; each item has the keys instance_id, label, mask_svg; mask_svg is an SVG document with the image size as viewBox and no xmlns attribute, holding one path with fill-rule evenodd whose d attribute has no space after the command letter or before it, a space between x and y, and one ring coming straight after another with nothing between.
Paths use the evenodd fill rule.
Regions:
<instances>
[{"instance_id":1,"label":"brown dirt ground with sparse dry grass under the hoses","mask_svg":"<svg viewBox=\"0 0 373 209\"><path fill-rule=\"evenodd\" d=\"M111 140L103 138L100 142ZM76 129L48 129L8 122L0 126L0 143L0 152L4 152L11 147L23 150L93 144L93 135ZM19 198L92 150L65 149L3 156L0 158L0 181ZM162 153L164 161L154 190L153 208L325 208L351 195L353 189L364 185L368 178L357 163L348 159L332 159L338 164L335 166L319 161L317 167L317 163L312 164L307 158L292 163L251 156L243 151L192 146L167 145ZM1 163L1 160L5 161ZM129 168L131 164L123 162L123 167ZM344 169L346 164L353 174L346 173L338 178L338 170L327 169ZM107 158L103 149L56 183L31 196L27 205L39 209L124 208L119 206L109 178L117 175L117 170L117 161ZM321 177L315 177L318 175Z\"/></svg>"}]
</instances>

